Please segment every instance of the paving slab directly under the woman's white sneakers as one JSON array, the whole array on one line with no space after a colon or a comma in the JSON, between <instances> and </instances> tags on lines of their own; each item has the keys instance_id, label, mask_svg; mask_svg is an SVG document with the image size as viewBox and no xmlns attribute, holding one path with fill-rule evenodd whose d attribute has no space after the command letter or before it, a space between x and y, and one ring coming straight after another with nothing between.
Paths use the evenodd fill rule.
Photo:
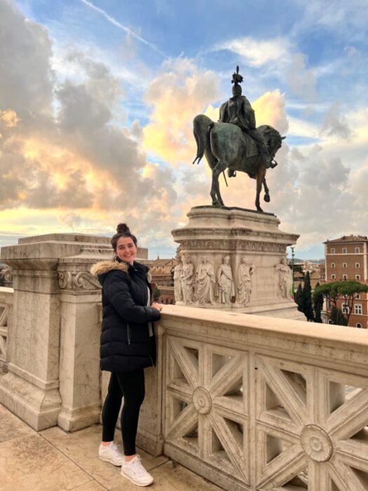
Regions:
<instances>
[{"instance_id":1,"label":"paving slab directly under the woman's white sneakers","mask_svg":"<svg viewBox=\"0 0 368 491\"><path fill-rule=\"evenodd\" d=\"M101 425L90 426L74 433L67 433L58 426L54 426L53 428L40 431L40 434L108 490L121 483L120 468L108 462L102 462L98 458L98 447L101 443L102 434ZM121 451L123 451L121 436L119 434L116 435L115 441ZM165 456L152 457L141 449L137 449L137 452L141 456L142 463L148 471L169 460Z\"/></svg>"}]
</instances>

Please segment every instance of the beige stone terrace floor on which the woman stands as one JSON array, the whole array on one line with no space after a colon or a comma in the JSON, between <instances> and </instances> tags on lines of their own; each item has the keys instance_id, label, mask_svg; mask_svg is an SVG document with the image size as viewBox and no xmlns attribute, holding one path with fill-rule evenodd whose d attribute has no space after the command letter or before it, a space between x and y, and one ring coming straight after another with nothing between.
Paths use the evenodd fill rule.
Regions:
<instances>
[{"instance_id":1,"label":"beige stone terrace floor on which the woman stands","mask_svg":"<svg viewBox=\"0 0 368 491\"><path fill-rule=\"evenodd\" d=\"M116 431L118 436L118 431ZM101 426L67 433L58 426L34 431L0 405L1 491L132 491L141 489L120 475L120 469L97 457ZM116 443L121 448L121 437ZM139 450L154 476L147 490L219 491L168 457Z\"/></svg>"}]
</instances>

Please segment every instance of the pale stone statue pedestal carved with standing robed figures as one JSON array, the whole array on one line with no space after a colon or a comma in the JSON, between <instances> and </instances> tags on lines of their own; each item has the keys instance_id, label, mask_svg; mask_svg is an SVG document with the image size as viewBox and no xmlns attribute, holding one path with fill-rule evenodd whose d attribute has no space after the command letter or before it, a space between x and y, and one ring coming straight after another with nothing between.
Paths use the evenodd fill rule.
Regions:
<instances>
[{"instance_id":1,"label":"pale stone statue pedestal carved with standing robed figures","mask_svg":"<svg viewBox=\"0 0 368 491\"><path fill-rule=\"evenodd\" d=\"M186 281L183 272L178 271L175 275L175 278L181 277L181 280L175 279L175 300L178 305L305 320L291 298L291 271L283 264L287 246L296 243L299 235L281 231L278 228L280 220L271 213L257 213L243 208L196 206L187 216L189 223L185 227L172 230L186 263L181 271L193 271ZM219 270L228 261L224 259L226 256L229 256L233 276L233 290L228 302L224 300L224 285L221 285L219 278L222 274ZM216 283L212 281L203 285L198 282L201 271L205 270L201 266L203 263L207 264L210 275L212 270ZM248 268L250 276L250 281L243 288L245 276L244 267L240 267L242 263ZM229 271L229 267L225 269ZM213 288L214 304L203 293L208 288ZM247 288L246 295L244 288ZM179 299L178 293L181 296Z\"/></svg>"}]
</instances>

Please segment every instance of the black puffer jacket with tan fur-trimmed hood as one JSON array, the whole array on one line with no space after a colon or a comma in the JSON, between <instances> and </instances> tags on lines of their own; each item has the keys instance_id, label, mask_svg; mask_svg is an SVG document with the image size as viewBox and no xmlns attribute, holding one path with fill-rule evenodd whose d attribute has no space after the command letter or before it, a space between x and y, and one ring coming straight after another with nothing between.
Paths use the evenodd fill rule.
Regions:
<instances>
[{"instance_id":1,"label":"black puffer jacket with tan fur-trimmed hood","mask_svg":"<svg viewBox=\"0 0 368 491\"><path fill-rule=\"evenodd\" d=\"M160 312L147 307L149 269L139 262L102 261L90 271L102 285L101 370L132 372L156 364L148 323L158 321Z\"/></svg>"}]
</instances>

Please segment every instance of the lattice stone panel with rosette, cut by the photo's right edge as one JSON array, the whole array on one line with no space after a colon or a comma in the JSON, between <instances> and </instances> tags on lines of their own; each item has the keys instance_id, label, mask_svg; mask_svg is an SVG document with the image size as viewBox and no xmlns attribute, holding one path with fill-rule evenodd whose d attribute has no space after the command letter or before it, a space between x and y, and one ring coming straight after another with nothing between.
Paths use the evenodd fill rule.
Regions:
<instances>
[{"instance_id":1,"label":"lattice stone panel with rosette, cut by the photo's right edge","mask_svg":"<svg viewBox=\"0 0 368 491\"><path fill-rule=\"evenodd\" d=\"M257 356L257 490L368 490L368 381Z\"/></svg>"}]
</instances>

